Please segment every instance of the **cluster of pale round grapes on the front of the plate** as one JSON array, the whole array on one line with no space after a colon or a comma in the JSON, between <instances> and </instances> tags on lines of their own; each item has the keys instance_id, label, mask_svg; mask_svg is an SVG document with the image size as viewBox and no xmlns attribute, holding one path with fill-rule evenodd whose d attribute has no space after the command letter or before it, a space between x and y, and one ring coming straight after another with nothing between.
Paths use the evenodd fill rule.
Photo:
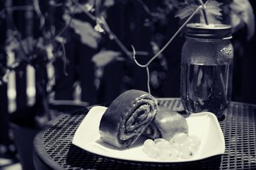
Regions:
<instances>
[{"instance_id":1,"label":"cluster of pale round grapes on the front of the plate","mask_svg":"<svg viewBox=\"0 0 256 170\"><path fill-rule=\"evenodd\" d=\"M175 134L170 141L163 138L147 139L143 143L143 152L150 158L159 160L177 160L193 157L198 151L200 139L185 133Z\"/></svg>"}]
</instances>

